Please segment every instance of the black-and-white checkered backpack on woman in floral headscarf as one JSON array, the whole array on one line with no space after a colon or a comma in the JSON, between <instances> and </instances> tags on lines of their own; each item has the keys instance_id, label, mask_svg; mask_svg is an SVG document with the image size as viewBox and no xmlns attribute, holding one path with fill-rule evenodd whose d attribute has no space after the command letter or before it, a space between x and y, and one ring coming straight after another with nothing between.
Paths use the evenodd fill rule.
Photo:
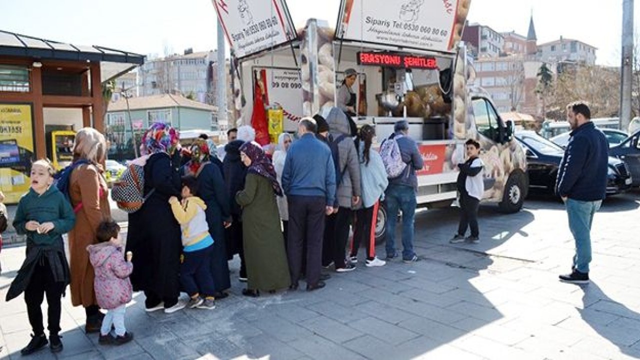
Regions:
<instances>
[{"instance_id":1,"label":"black-and-white checkered backpack on woman in floral headscarf","mask_svg":"<svg viewBox=\"0 0 640 360\"><path fill-rule=\"evenodd\" d=\"M129 164L120 179L111 186L111 199L116 202L118 209L131 214L142 208L142 204L154 190L156 189L151 189L147 196L144 195L145 167Z\"/></svg>"}]
</instances>

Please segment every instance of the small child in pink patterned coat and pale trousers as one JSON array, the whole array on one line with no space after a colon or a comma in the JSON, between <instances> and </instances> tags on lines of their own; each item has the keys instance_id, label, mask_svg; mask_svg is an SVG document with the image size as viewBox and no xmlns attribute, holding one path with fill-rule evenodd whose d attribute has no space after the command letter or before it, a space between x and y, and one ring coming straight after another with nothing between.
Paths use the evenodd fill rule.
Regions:
<instances>
[{"instance_id":1,"label":"small child in pink patterned coat and pale trousers","mask_svg":"<svg viewBox=\"0 0 640 360\"><path fill-rule=\"evenodd\" d=\"M100 345L122 345L133 340L133 334L124 326L127 303L131 301L132 287L129 275L133 270L132 254L125 261L120 240L120 226L113 221L102 222L96 232L98 243L89 245L89 259L95 271L95 297L98 305L107 310L100 329ZM111 326L115 336L111 335Z\"/></svg>"}]
</instances>

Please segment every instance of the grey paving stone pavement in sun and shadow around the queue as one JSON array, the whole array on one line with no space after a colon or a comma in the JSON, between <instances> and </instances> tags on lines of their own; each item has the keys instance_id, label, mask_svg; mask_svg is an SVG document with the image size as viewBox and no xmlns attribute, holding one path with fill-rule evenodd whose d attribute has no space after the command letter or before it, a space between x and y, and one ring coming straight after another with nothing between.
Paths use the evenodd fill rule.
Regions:
<instances>
[{"instance_id":1,"label":"grey paving stone pavement in sun and shadow around the queue","mask_svg":"<svg viewBox=\"0 0 640 360\"><path fill-rule=\"evenodd\" d=\"M573 241L560 202L512 215L483 206L481 243L448 243L457 209L419 211L422 261L332 274L326 288L247 299L236 281L216 309L145 313L127 307L132 343L97 345L84 311L63 300L65 350L31 359L632 359L640 358L640 192L607 200L593 225L591 283L563 284ZM378 254L384 255L383 247ZM0 296L24 247L0 254ZM304 288L304 286L301 286ZM29 340L22 297L0 300L0 359Z\"/></svg>"}]
</instances>

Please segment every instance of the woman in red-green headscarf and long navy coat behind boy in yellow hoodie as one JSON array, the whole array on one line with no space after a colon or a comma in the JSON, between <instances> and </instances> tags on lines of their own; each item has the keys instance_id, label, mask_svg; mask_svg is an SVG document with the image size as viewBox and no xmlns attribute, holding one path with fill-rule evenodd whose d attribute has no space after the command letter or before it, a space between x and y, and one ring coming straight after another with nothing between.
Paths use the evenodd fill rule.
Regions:
<instances>
[{"instance_id":1,"label":"woman in red-green headscarf and long navy coat behind boy in yellow hoodie","mask_svg":"<svg viewBox=\"0 0 640 360\"><path fill-rule=\"evenodd\" d=\"M189 150L191 160L182 167L182 174L198 178L198 197L207 204L205 214L213 238L211 273L216 288L214 297L223 299L227 297L225 290L231 287L224 229L231 224L229 198L222 172L211 162L207 140L196 140Z\"/></svg>"}]
</instances>

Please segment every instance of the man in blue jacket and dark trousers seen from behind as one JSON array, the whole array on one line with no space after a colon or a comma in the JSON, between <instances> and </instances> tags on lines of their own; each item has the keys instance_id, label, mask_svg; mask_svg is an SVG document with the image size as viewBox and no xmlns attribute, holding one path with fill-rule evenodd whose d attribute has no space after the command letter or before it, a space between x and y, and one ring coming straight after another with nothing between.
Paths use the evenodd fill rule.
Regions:
<instances>
[{"instance_id":1,"label":"man in blue jacket and dark trousers seen from behind","mask_svg":"<svg viewBox=\"0 0 640 360\"><path fill-rule=\"evenodd\" d=\"M335 168L327 145L316 139L316 120L303 118L300 140L287 151L282 170L282 189L289 203L287 256L291 289L298 288L302 256L307 256L307 290L324 288L320 280L324 216L333 213ZM303 242L307 240L307 254Z\"/></svg>"}]
</instances>

